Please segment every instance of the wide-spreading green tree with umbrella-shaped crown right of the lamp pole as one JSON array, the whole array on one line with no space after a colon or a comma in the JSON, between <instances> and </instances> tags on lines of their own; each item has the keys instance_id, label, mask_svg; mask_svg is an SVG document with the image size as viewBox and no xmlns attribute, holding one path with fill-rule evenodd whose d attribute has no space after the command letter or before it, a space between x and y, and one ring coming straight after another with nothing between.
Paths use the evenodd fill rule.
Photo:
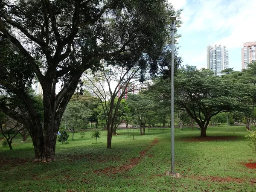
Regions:
<instances>
[{"instance_id":1,"label":"wide-spreading green tree with umbrella-shaped crown right of the lamp pole","mask_svg":"<svg viewBox=\"0 0 256 192\"><path fill-rule=\"evenodd\" d=\"M212 116L238 107L235 79L214 76L212 70L186 66L179 70L174 83L175 108L186 111L198 123L202 137L207 136L207 126ZM161 99L170 100L168 81L158 80L154 89L158 90Z\"/></svg>"}]
</instances>

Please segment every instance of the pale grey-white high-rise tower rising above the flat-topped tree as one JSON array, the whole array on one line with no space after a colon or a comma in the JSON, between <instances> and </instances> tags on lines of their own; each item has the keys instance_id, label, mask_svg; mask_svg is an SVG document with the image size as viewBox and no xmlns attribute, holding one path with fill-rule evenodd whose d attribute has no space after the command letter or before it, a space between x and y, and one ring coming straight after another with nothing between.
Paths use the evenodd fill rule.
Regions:
<instances>
[{"instance_id":1,"label":"pale grey-white high-rise tower rising above the flat-topped tree","mask_svg":"<svg viewBox=\"0 0 256 192\"><path fill-rule=\"evenodd\" d=\"M229 68L228 60L226 46L207 46L207 69L211 69L215 76L221 76L221 71Z\"/></svg>"}]
</instances>

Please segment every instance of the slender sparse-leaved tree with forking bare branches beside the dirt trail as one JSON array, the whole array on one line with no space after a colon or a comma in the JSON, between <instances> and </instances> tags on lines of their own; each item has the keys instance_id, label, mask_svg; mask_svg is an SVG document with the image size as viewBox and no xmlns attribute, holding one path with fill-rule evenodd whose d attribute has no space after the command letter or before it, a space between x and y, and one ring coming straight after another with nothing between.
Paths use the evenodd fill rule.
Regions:
<instances>
[{"instance_id":1,"label":"slender sparse-leaved tree with forking bare branches beside the dirt trail","mask_svg":"<svg viewBox=\"0 0 256 192\"><path fill-rule=\"evenodd\" d=\"M147 62L131 63L129 67L120 65L108 65L107 67L102 63L92 79L85 76L85 86L92 90L101 102L100 108L103 113L99 113L98 118L101 118L101 122L102 118L105 118L108 130L108 148L111 148L112 135L122 120L122 112L120 112L122 98L137 89L139 84L136 83L140 79L144 79L143 68L147 68ZM89 81L90 85L86 81ZM107 88L105 88L105 84L108 85Z\"/></svg>"}]
</instances>

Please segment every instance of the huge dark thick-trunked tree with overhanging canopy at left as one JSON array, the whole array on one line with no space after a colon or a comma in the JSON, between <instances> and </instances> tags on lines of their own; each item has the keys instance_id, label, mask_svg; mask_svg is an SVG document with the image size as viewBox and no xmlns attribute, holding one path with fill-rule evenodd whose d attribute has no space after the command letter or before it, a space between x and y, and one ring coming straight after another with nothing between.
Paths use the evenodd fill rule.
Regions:
<instances>
[{"instance_id":1,"label":"huge dark thick-trunked tree with overhanging canopy at left","mask_svg":"<svg viewBox=\"0 0 256 192\"><path fill-rule=\"evenodd\" d=\"M0 41L12 43L0 66L0 85L8 97L23 102L28 115L12 111L6 100L0 110L26 125L35 161L55 160L61 116L85 70L96 70L101 60L123 61L124 66L146 61L151 73L159 65L164 68L168 62L164 62L163 49L174 13L165 0L0 1ZM43 89L43 121L26 90L33 76Z\"/></svg>"}]
</instances>

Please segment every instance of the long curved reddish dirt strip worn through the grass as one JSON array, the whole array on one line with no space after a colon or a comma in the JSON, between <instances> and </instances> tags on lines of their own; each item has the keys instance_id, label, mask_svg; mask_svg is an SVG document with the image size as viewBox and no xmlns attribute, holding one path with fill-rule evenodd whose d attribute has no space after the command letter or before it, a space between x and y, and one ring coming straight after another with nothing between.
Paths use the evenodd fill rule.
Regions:
<instances>
[{"instance_id":1,"label":"long curved reddish dirt strip worn through the grass","mask_svg":"<svg viewBox=\"0 0 256 192\"><path fill-rule=\"evenodd\" d=\"M151 147L158 142L159 142L158 138L155 138L154 141L150 145L148 145L148 148L146 148L144 151L140 152L140 157L135 157L135 158L130 159L129 164L123 164L123 165L117 166L117 167L114 167L114 166L106 167L105 169L98 169L93 172L96 173L97 175L101 175L101 174L109 175L109 174L116 174L119 172L127 172L129 169L136 166L140 162L140 159L143 156L145 156L145 154L151 149Z\"/></svg>"}]
</instances>

